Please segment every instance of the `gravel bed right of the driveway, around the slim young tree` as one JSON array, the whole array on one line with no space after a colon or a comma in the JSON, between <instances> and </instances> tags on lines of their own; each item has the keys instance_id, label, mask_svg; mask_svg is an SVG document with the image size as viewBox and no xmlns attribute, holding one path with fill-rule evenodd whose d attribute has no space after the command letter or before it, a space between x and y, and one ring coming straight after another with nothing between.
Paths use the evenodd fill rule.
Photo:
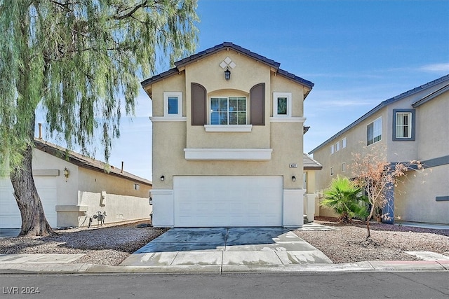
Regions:
<instances>
[{"instance_id":1,"label":"gravel bed right of the driveway, around the slim young tree","mask_svg":"<svg viewBox=\"0 0 449 299\"><path fill-rule=\"evenodd\" d=\"M316 223L339 228L328 231L299 231L295 234L323 251L333 263L365 260L420 260L404 251L433 251L449 256L449 230L414 228L384 223L337 223L335 218L316 218Z\"/></svg>"}]
</instances>

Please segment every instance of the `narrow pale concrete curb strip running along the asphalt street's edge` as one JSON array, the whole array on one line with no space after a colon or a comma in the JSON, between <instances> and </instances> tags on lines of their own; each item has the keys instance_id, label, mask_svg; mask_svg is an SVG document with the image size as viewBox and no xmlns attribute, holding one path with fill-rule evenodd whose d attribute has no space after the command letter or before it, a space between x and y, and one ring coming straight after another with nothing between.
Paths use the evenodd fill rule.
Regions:
<instances>
[{"instance_id":1,"label":"narrow pale concrete curb strip running along the asphalt street's edge","mask_svg":"<svg viewBox=\"0 0 449 299\"><path fill-rule=\"evenodd\" d=\"M346 264L302 265L173 265L114 266L94 264L8 264L0 265L0 274L231 274L287 272L447 272L449 260L385 261L372 260Z\"/></svg>"}]
</instances>

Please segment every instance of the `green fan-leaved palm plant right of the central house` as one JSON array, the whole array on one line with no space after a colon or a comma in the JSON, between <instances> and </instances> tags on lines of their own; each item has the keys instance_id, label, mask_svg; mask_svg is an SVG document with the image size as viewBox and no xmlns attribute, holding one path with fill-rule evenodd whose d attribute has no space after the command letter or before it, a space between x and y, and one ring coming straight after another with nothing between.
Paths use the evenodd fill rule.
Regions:
<instances>
[{"instance_id":1,"label":"green fan-leaved palm plant right of the central house","mask_svg":"<svg viewBox=\"0 0 449 299\"><path fill-rule=\"evenodd\" d=\"M366 219L368 201L361 193L362 189L347 177L337 176L324 190L321 207L333 209L340 215L340 222L350 222L352 218Z\"/></svg>"}]
</instances>

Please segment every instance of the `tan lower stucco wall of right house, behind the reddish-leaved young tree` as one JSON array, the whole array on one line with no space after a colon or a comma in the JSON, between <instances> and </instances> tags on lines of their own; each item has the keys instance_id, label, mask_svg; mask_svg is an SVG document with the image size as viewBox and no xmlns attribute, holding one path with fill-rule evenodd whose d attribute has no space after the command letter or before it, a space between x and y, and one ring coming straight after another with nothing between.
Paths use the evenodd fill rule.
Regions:
<instances>
[{"instance_id":1,"label":"tan lower stucco wall of right house, behind the reddish-leaved young tree","mask_svg":"<svg viewBox=\"0 0 449 299\"><path fill-rule=\"evenodd\" d=\"M395 188L394 215L401 221L447 225L449 201L436 201L436 197L449 195L449 165L431 167L424 173L409 172L405 183Z\"/></svg>"}]
</instances>

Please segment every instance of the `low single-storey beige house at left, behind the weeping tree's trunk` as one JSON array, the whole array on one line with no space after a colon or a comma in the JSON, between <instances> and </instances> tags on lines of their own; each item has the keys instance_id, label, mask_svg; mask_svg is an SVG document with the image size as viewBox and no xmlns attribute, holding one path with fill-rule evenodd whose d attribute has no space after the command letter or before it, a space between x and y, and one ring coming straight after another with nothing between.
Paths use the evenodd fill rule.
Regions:
<instances>
[{"instance_id":1,"label":"low single-storey beige house at left, behind the weeping tree's trunk","mask_svg":"<svg viewBox=\"0 0 449 299\"><path fill-rule=\"evenodd\" d=\"M152 211L152 182L68 151L41 139L34 140L32 169L48 223L55 227L87 226L105 216L104 223L148 219ZM20 228L21 218L9 177L0 177L0 228ZM93 225L98 224L95 218Z\"/></svg>"}]
</instances>

